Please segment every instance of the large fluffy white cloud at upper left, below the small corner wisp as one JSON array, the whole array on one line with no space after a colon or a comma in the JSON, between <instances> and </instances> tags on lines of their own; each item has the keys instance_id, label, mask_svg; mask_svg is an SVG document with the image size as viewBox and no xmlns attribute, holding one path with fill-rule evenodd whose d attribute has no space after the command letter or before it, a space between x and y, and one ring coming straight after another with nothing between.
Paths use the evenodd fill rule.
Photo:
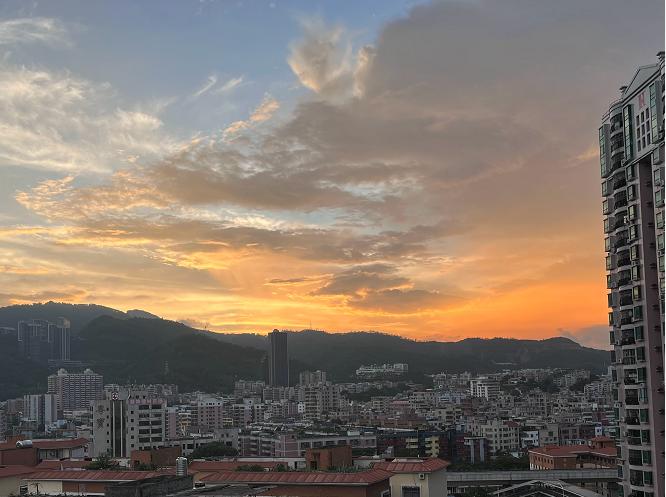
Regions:
<instances>
[{"instance_id":1,"label":"large fluffy white cloud at upper left, below the small corner wisp","mask_svg":"<svg viewBox=\"0 0 666 497\"><path fill-rule=\"evenodd\" d=\"M157 115L120 108L106 83L0 65L0 162L5 165L112 171L178 146Z\"/></svg>"}]
</instances>

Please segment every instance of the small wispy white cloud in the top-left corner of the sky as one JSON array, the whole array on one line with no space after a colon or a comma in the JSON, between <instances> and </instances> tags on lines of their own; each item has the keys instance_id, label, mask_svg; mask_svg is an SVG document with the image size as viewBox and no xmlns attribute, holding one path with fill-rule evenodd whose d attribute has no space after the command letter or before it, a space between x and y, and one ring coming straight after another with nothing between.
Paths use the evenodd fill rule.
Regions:
<instances>
[{"instance_id":1,"label":"small wispy white cloud in the top-left corner of the sky","mask_svg":"<svg viewBox=\"0 0 666 497\"><path fill-rule=\"evenodd\" d=\"M43 43L69 45L69 35L58 19L31 17L0 21L0 45Z\"/></svg>"}]
</instances>

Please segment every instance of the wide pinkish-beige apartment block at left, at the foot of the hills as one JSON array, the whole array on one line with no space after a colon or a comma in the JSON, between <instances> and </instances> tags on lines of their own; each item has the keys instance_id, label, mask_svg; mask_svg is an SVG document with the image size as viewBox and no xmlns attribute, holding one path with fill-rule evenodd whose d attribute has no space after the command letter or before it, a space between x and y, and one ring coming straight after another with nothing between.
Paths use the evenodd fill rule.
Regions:
<instances>
[{"instance_id":1,"label":"wide pinkish-beige apartment block at left, at the foot of the hills","mask_svg":"<svg viewBox=\"0 0 666 497\"><path fill-rule=\"evenodd\" d=\"M59 369L48 378L48 393L58 396L58 409L74 411L89 409L92 402L103 397L102 375L86 369L83 373L68 373Z\"/></svg>"}]
</instances>

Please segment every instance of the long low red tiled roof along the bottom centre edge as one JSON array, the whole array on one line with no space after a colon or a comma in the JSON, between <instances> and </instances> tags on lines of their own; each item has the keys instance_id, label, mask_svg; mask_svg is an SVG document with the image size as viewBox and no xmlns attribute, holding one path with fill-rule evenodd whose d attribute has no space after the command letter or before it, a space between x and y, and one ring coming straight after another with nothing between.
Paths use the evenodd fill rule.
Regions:
<instances>
[{"instance_id":1,"label":"long low red tiled roof along the bottom centre edge","mask_svg":"<svg viewBox=\"0 0 666 497\"><path fill-rule=\"evenodd\" d=\"M271 485L372 485L388 480L392 473L371 469L358 473L326 473L321 471L221 471L201 478L208 483L250 483Z\"/></svg>"}]
</instances>

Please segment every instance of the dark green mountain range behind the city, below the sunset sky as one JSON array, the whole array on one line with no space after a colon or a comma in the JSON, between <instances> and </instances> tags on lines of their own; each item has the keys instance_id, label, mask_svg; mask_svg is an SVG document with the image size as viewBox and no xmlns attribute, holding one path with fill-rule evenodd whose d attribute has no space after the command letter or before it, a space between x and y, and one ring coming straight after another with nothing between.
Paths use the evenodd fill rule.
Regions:
<instances>
[{"instance_id":1,"label":"dark green mountain range behind the city, below the sunset sky","mask_svg":"<svg viewBox=\"0 0 666 497\"><path fill-rule=\"evenodd\" d=\"M262 379L268 340L251 333L215 333L160 319L141 310L122 312L94 304L15 305L0 308L0 327L33 318L71 322L72 359L104 375L107 383L176 383L182 390L229 391L239 378ZM416 341L377 332L290 332L292 380L322 369L346 381L361 364L403 362L409 379L437 372L492 372L507 367L586 368L603 372L606 351L568 338L468 338ZM16 339L0 335L0 400L45 391L49 369L18 357Z\"/></svg>"}]
</instances>

